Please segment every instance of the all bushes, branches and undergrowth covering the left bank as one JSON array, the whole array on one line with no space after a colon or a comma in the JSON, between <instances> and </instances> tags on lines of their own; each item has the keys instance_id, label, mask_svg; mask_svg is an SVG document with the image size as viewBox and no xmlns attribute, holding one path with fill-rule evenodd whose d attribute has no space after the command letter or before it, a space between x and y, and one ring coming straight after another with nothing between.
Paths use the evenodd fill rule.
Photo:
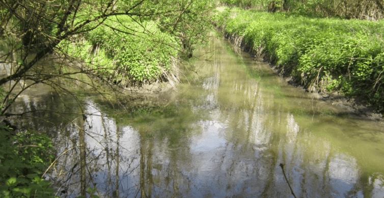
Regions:
<instances>
[{"instance_id":1,"label":"all bushes, branches and undergrowth covering the left bank","mask_svg":"<svg viewBox=\"0 0 384 198\"><path fill-rule=\"evenodd\" d=\"M177 79L175 60L190 58L205 41L213 6L207 0L0 2L0 58L13 67L0 85L32 82L5 90L1 113L30 86L60 86L54 81L76 80L75 73L123 86ZM59 56L51 68L39 65L52 54Z\"/></svg>"}]
</instances>

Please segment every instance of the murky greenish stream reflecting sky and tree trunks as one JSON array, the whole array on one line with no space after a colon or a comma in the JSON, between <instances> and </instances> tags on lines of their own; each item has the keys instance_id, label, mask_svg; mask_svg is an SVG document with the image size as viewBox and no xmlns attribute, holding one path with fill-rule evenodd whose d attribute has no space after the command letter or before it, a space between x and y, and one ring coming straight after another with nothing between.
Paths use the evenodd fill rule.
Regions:
<instances>
[{"instance_id":1,"label":"murky greenish stream reflecting sky and tree trunks","mask_svg":"<svg viewBox=\"0 0 384 198\"><path fill-rule=\"evenodd\" d=\"M14 112L62 112L19 123L54 137L61 155L46 179L58 196L293 197L280 164L296 197L384 196L384 125L288 85L225 40L198 57L199 76L159 96L162 108L117 111L89 96L83 119L70 96L21 95Z\"/></svg>"}]
</instances>

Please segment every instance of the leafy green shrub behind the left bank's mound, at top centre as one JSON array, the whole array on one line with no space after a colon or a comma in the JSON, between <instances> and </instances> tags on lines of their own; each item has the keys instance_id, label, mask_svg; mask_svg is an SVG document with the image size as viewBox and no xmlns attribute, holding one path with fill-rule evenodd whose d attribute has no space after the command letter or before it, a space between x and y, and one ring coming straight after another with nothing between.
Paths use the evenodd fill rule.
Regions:
<instances>
[{"instance_id":1,"label":"leafy green shrub behind the left bank's mound, at top centre","mask_svg":"<svg viewBox=\"0 0 384 198\"><path fill-rule=\"evenodd\" d=\"M141 17L141 20L156 21L162 32L177 37L182 45L181 54L190 57L196 45L207 42L206 35L212 30L210 19L214 7L215 2L209 0L156 0L144 1L135 10L148 13L148 17Z\"/></svg>"}]
</instances>

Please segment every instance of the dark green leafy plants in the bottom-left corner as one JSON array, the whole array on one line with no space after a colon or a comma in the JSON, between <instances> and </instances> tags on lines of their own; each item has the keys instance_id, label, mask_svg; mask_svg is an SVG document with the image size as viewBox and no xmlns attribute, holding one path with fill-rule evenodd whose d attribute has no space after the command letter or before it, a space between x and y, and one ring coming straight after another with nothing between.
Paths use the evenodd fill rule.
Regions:
<instances>
[{"instance_id":1,"label":"dark green leafy plants in the bottom-left corner","mask_svg":"<svg viewBox=\"0 0 384 198\"><path fill-rule=\"evenodd\" d=\"M41 179L54 159L50 138L10 131L0 126L0 197L54 197L50 182Z\"/></svg>"}]
</instances>

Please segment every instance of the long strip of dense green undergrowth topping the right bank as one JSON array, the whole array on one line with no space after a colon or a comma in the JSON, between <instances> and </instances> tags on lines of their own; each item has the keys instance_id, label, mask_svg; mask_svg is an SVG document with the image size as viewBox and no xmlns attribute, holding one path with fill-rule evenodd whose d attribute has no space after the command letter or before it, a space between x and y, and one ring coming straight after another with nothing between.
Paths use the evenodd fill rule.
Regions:
<instances>
[{"instance_id":1,"label":"long strip of dense green undergrowth topping the right bank","mask_svg":"<svg viewBox=\"0 0 384 198\"><path fill-rule=\"evenodd\" d=\"M309 91L361 96L383 110L383 21L226 9L216 26Z\"/></svg>"}]
</instances>

